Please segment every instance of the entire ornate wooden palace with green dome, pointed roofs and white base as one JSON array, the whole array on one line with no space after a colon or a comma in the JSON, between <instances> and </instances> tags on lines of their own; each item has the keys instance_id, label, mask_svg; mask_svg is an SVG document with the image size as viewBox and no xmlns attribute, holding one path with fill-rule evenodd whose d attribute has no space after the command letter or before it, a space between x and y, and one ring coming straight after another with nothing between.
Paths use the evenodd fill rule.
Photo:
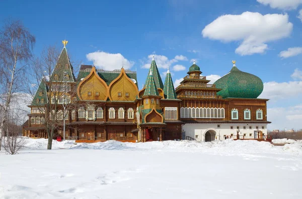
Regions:
<instances>
[{"instance_id":1,"label":"entire ornate wooden palace with green dome, pointed roofs and white base","mask_svg":"<svg viewBox=\"0 0 302 199\"><path fill-rule=\"evenodd\" d=\"M212 141L267 135L267 99L257 98L263 83L240 71L235 62L230 73L214 84L208 84L194 62L175 89L169 69L163 83L153 58L139 91L136 72L124 68L104 71L82 65L75 78L65 44L49 80L41 82L29 105L24 136L47 138L50 121L56 122L55 137L64 131L65 139L77 142Z\"/></svg>"}]
</instances>

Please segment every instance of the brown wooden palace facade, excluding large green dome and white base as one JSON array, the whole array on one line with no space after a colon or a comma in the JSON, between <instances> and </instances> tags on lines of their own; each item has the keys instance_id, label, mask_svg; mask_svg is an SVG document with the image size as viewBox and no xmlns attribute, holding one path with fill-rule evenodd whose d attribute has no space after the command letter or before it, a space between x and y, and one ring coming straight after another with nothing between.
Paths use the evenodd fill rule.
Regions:
<instances>
[{"instance_id":1,"label":"brown wooden palace facade, excluding large green dome and white base","mask_svg":"<svg viewBox=\"0 0 302 199\"><path fill-rule=\"evenodd\" d=\"M68 65L60 64L60 62L69 63L68 56L62 58L64 51L66 51L65 47L54 71L60 71L60 66ZM269 123L266 120L266 99L222 98L217 95L221 89L216 88L214 84L208 84L209 80L200 76L199 70L194 69L188 74L174 90L169 70L164 85L153 60L146 83L139 91L136 72L123 68L103 71L97 70L94 66L82 65L77 79L58 82L58 84L68 84L71 88L70 92L65 92L70 99L69 103L72 104L72 109L68 110L65 118L65 138L77 142L180 140L183 138L182 126L186 123L246 121ZM45 87L49 85L45 83ZM42 118L51 110L46 110L45 105L47 114L40 113L36 108L41 108L43 105L37 105L35 101L41 98L39 95L44 90L50 92L51 88L48 87L47 89L39 87L40 90L37 91L33 103L29 105L32 112L28 115L27 123L23 125L24 136L47 138ZM63 110L62 104L58 104L57 108ZM209 113L207 108L210 109ZM185 115L184 110L187 109L191 112ZM205 110L202 116L201 109ZM211 113L214 109L219 109L220 116L218 113ZM237 119L232 118L233 110L238 111ZM248 120L244 118L245 110L251 113ZM262 111L262 119L256 117L257 110ZM61 119L56 126L55 136L62 136L62 134L63 120Z\"/></svg>"}]
</instances>

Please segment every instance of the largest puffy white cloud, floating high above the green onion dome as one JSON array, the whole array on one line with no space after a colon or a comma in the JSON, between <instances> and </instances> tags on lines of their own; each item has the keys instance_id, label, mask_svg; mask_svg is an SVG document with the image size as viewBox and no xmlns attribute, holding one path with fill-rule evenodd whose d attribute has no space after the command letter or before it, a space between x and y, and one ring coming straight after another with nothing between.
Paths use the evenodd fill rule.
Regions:
<instances>
[{"instance_id":1,"label":"largest puffy white cloud, floating high above the green onion dome","mask_svg":"<svg viewBox=\"0 0 302 199\"><path fill-rule=\"evenodd\" d=\"M223 15L202 30L202 36L221 42L242 41L236 49L240 55L264 53L267 42L288 37L293 25L287 14L245 12L241 15Z\"/></svg>"}]
</instances>

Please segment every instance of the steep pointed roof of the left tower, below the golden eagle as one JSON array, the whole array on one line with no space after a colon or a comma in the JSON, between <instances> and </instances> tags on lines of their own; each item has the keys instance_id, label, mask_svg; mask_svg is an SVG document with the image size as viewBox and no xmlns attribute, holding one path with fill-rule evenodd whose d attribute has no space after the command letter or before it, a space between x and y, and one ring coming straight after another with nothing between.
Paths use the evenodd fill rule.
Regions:
<instances>
[{"instance_id":1,"label":"steep pointed roof of the left tower, below the golden eagle","mask_svg":"<svg viewBox=\"0 0 302 199\"><path fill-rule=\"evenodd\" d=\"M57 75L57 79L55 78L55 75ZM69 78L66 79L67 75ZM57 82L74 82L75 81L74 75L73 75L73 68L69 62L69 57L68 57L65 46L61 51L61 54L55 65L55 68L50 76L49 81L57 81Z\"/></svg>"}]
</instances>

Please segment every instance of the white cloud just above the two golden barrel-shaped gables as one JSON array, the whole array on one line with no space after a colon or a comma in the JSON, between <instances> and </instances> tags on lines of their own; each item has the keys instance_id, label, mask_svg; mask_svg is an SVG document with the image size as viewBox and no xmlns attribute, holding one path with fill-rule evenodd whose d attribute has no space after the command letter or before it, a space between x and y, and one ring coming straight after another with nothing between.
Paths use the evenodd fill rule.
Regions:
<instances>
[{"instance_id":1,"label":"white cloud just above the two golden barrel-shaped gables","mask_svg":"<svg viewBox=\"0 0 302 199\"><path fill-rule=\"evenodd\" d=\"M122 66L124 69L130 69L134 65L134 62L128 61L120 53L111 54L103 51L97 51L87 54L86 57L89 61L94 61L94 64L97 68L108 71L121 69Z\"/></svg>"}]
</instances>

